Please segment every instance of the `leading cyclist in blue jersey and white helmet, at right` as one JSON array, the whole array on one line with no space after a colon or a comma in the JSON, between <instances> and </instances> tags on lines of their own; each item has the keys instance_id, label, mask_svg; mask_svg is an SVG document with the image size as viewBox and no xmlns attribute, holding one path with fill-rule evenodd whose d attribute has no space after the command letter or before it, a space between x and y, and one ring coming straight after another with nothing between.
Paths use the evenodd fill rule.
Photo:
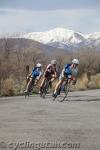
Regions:
<instances>
[{"instance_id":1,"label":"leading cyclist in blue jersey and white helmet, at right","mask_svg":"<svg viewBox=\"0 0 100 150\"><path fill-rule=\"evenodd\" d=\"M73 59L71 64L66 64L64 69L62 70L62 73L60 75L59 81L55 87L54 93L52 94L52 96L54 98L57 97L57 95L59 93L57 93L59 87L61 87L61 85L64 82L65 78L69 78L72 77L72 84L75 85L76 81L77 81L77 75L78 75L78 65L79 65L79 60L78 59Z\"/></svg>"}]
</instances>

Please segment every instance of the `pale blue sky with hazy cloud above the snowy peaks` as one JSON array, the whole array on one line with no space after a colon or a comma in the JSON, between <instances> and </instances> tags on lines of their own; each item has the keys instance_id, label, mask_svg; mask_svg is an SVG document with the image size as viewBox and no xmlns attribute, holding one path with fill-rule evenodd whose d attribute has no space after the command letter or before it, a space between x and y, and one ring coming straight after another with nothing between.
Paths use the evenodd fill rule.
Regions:
<instances>
[{"instance_id":1,"label":"pale blue sky with hazy cloud above the snowy peaks","mask_svg":"<svg viewBox=\"0 0 100 150\"><path fill-rule=\"evenodd\" d=\"M100 32L100 0L0 0L0 34L56 27Z\"/></svg>"}]
</instances>

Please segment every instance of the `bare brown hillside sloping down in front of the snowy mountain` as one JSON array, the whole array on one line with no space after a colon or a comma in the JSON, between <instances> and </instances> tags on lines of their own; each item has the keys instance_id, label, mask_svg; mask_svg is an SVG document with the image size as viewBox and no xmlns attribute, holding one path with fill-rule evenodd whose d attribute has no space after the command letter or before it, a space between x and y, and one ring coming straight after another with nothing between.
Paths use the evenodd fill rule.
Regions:
<instances>
[{"instance_id":1,"label":"bare brown hillside sloping down in front of the snowy mountain","mask_svg":"<svg viewBox=\"0 0 100 150\"><path fill-rule=\"evenodd\" d=\"M25 51L25 52L60 52L61 49L54 48L45 44L41 44L37 41L24 39L24 38L8 38L0 39L0 50L10 49L11 51Z\"/></svg>"}]
</instances>

